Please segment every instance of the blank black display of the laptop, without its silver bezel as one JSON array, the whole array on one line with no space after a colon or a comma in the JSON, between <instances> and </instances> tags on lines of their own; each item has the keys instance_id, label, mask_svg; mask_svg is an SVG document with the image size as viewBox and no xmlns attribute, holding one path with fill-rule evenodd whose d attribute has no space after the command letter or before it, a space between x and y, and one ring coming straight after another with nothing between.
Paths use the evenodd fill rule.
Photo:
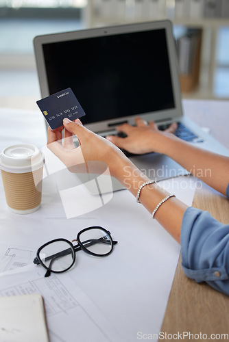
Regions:
<instances>
[{"instance_id":1,"label":"blank black display of the laptop, without its silver bezel","mask_svg":"<svg viewBox=\"0 0 229 342\"><path fill-rule=\"evenodd\" d=\"M71 88L84 124L174 108L165 29L43 44L49 94Z\"/></svg>"}]
</instances>

